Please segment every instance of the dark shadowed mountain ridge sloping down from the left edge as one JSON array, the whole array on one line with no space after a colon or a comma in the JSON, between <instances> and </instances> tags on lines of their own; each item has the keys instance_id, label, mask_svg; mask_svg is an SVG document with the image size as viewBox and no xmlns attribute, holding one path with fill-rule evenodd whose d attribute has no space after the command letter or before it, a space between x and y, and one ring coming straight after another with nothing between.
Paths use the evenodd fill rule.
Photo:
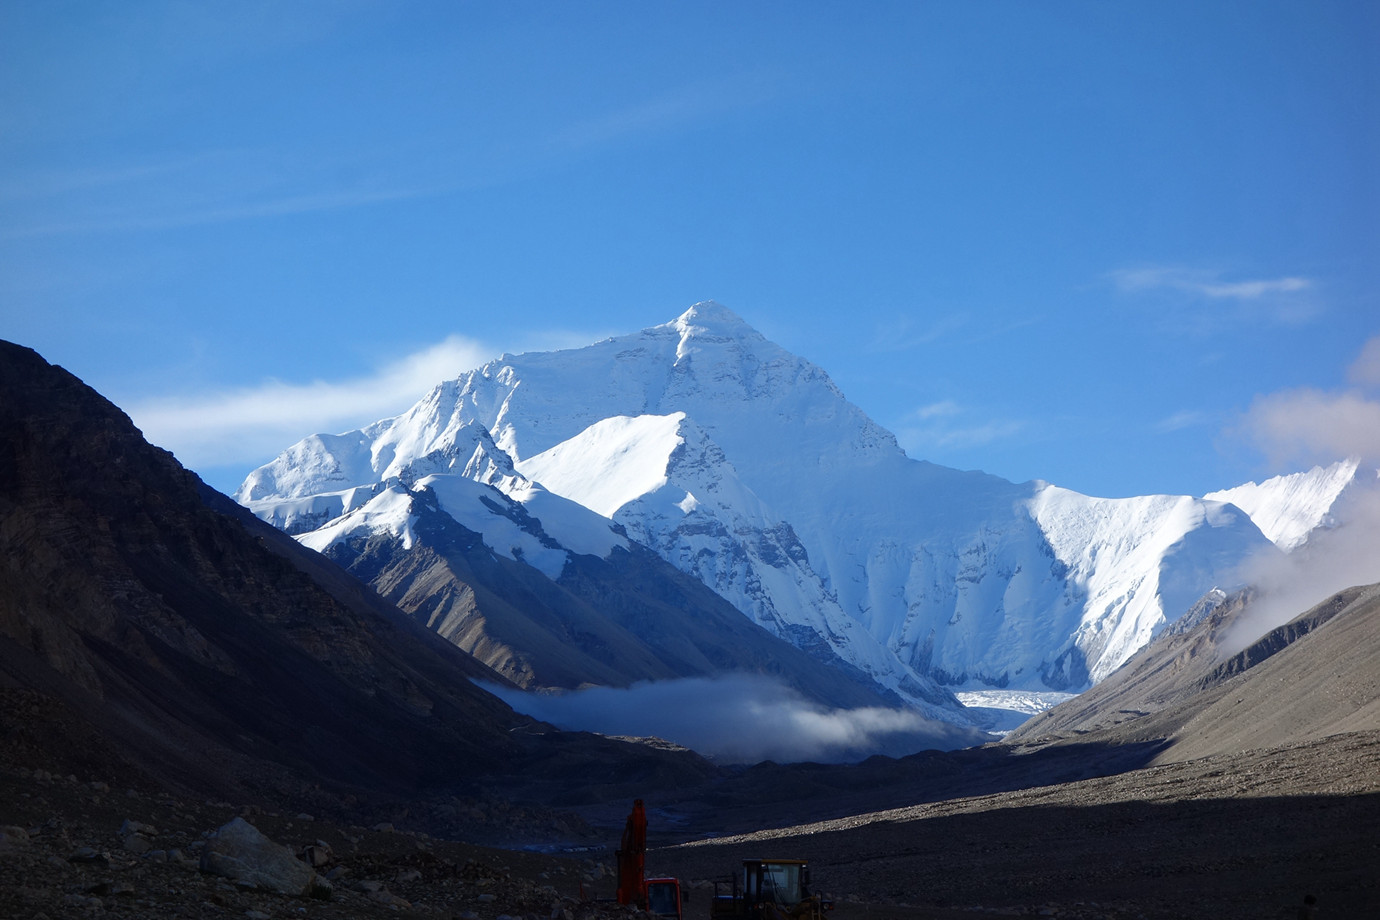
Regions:
<instances>
[{"instance_id":1,"label":"dark shadowed mountain ridge sloping down from the left edge","mask_svg":"<svg viewBox=\"0 0 1380 920\"><path fill-rule=\"evenodd\" d=\"M113 759L131 782L240 800L624 797L711 771L515 713L471 684L493 670L11 343L0 432L0 723L30 767L102 775Z\"/></svg>"}]
</instances>

